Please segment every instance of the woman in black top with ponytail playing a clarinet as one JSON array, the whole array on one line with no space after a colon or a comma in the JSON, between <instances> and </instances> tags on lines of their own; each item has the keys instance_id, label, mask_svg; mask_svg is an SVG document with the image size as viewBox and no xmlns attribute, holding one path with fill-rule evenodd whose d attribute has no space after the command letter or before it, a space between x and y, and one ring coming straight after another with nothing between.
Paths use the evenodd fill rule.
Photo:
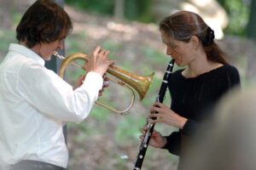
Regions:
<instances>
[{"instance_id":1,"label":"woman in black top with ponytail playing a clarinet","mask_svg":"<svg viewBox=\"0 0 256 170\"><path fill-rule=\"evenodd\" d=\"M163 122L177 127L177 132L162 136L152 133L149 144L169 150L180 156L178 169L182 169L184 147L202 123L211 119L212 108L231 88L240 86L236 68L224 59L224 53L214 42L214 31L198 14L179 11L160 21L162 41L166 54L185 69L172 74L168 88L172 97L171 109L155 103L150 109L151 123ZM146 128L143 128L143 134ZM143 136L140 137L143 139Z\"/></svg>"}]
</instances>

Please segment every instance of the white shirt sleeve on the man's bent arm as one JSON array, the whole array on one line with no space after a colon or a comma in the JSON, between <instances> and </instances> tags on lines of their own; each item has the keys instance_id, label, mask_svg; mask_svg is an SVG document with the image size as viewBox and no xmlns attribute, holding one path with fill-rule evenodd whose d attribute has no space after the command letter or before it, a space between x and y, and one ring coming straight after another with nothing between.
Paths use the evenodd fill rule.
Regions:
<instances>
[{"instance_id":1,"label":"white shirt sleeve on the man's bent arm","mask_svg":"<svg viewBox=\"0 0 256 170\"><path fill-rule=\"evenodd\" d=\"M89 115L102 82L100 74L88 72L83 85L73 90L54 71L29 63L20 68L17 88L22 98L42 114L64 122L81 122Z\"/></svg>"}]
</instances>

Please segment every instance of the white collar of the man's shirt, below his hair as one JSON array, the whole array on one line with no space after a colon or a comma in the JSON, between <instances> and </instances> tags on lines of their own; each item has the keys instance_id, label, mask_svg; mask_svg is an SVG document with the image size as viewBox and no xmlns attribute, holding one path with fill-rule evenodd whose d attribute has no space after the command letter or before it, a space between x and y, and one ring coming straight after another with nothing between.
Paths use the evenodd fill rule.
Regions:
<instances>
[{"instance_id":1,"label":"white collar of the man's shirt, below his hair","mask_svg":"<svg viewBox=\"0 0 256 170\"><path fill-rule=\"evenodd\" d=\"M14 51L16 53L24 54L27 58L34 59L38 64L44 65L45 61L38 54L33 52L30 48L26 48L18 43L10 43L9 51Z\"/></svg>"}]
</instances>

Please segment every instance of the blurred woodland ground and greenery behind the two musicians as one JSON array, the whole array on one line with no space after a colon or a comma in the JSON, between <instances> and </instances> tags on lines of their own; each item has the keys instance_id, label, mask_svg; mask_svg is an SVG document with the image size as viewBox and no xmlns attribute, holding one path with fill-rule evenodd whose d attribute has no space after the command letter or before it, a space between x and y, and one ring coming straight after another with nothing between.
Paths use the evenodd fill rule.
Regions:
<instances>
[{"instance_id":1,"label":"blurred woodland ground and greenery behind the two musicians","mask_svg":"<svg viewBox=\"0 0 256 170\"><path fill-rule=\"evenodd\" d=\"M34 0L0 0L0 62L9 42L16 42L15 27ZM128 115L113 114L95 105L80 124L67 123L69 169L105 170L133 168L140 141L140 128L159 92L170 57L160 39L159 21L177 10L200 14L216 33L216 42L228 54L241 75L242 88L253 86L256 78L256 1L255 0L55 0L73 20L73 32L65 42L65 55L90 54L96 45L107 48L115 65L131 73L155 73L148 94ZM179 69L177 67L174 70ZM82 74L68 74L68 79ZM112 85L112 84L110 84ZM130 99L124 88L106 89L101 97L113 107ZM165 103L170 105L170 95ZM168 135L177 129L157 124L155 129ZM144 170L176 170L177 156L148 147Z\"/></svg>"}]
</instances>

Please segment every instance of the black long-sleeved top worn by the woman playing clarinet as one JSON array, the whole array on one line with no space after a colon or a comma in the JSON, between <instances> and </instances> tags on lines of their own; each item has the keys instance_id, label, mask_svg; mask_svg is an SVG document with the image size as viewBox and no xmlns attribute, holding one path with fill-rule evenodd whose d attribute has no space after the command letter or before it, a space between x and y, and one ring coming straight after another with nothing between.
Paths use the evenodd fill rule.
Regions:
<instances>
[{"instance_id":1,"label":"black long-sleeved top worn by the woman playing clarinet","mask_svg":"<svg viewBox=\"0 0 256 170\"><path fill-rule=\"evenodd\" d=\"M212 109L218 100L230 88L240 86L239 73L232 65L223 65L193 78L183 77L182 71L172 74L168 88L172 97L172 111L188 118L188 122L183 130L167 136L167 144L163 147L178 156L183 139L181 136L193 136L201 122L212 116Z\"/></svg>"}]
</instances>

